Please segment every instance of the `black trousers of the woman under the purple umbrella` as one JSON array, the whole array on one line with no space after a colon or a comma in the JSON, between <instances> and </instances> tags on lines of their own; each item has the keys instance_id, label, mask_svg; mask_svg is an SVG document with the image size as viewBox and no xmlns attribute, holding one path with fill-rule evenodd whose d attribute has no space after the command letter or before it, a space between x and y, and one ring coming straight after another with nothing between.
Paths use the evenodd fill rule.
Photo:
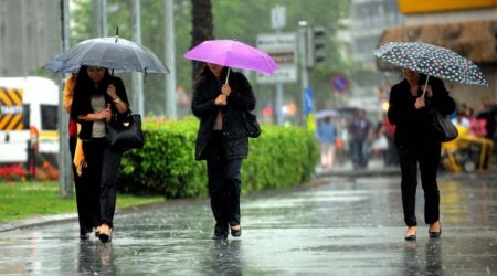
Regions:
<instances>
[{"instance_id":1,"label":"black trousers of the woman under the purple umbrella","mask_svg":"<svg viewBox=\"0 0 497 276\"><path fill-rule=\"evenodd\" d=\"M221 131L214 131L208 146L208 185L216 230L228 231L229 223L240 224L240 194L243 159L226 160Z\"/></svg>"}]
</instances>

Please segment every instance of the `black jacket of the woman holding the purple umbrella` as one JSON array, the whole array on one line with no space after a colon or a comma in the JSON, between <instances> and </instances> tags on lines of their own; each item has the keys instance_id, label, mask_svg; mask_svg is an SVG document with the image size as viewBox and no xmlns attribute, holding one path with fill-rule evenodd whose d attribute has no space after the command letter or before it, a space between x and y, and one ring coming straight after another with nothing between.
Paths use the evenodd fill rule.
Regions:
<instances>
[{"instance_id":1,"label":"black jacket of the woman holding the purple umbrella","mask_svg":"<svg viewBox=\"0 0 497 276\"><path fill-rule=\"evenodd\" d=\"M200 119L195 144L195 159L205 160L205 147L213 130L218 110L223 115L223 146L226 159L246 158L248 156L248 138L243 121L242 113L255 108L255 96L252 86L245 76L237 72L231 72L229 84L231 94L228 105L220 107L214 104L221 93L223 76L216 79L211 72L201 76L193 89L191 110Z\"/></svg>"}]
</instances>

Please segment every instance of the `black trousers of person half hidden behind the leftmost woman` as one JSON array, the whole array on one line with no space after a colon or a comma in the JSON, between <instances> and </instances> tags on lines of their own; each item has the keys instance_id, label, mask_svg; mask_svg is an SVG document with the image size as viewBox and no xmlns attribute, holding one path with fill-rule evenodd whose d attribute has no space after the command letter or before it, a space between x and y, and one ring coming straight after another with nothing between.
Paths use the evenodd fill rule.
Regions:
<instances>
[{"instance_id":1,"label":"black trousers of person half hidden behind the leftmost woman","mask_svg":"<svg viewBox=\"0 0 497 276\"><path fill-rule=\"evenodd\" d=\"M92 232L93 227L96 227L99 222L99 208L98 202L98 191L96 188L88 185L87 181L84 180L84 173L77 176L76 166L74 166L74 153L76 150L76 137L70 137L70 151L71 151L71 164L73 168L73 179L74 188L76 191L76 208L77 208L77 219L80 222L80 231Z\"/></svg>"}]
</instances>

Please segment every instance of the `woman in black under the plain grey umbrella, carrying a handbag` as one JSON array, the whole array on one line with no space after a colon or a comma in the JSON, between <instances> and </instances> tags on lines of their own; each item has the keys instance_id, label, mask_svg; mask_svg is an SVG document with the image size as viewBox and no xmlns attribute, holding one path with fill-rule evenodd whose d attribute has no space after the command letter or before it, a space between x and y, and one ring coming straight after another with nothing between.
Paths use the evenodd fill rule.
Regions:
<instances>
[{"instance_id":1,"label":"woman in black under the plain grey umbrella, carrying a handbag","mask_svg":"<svg viewBox=\"0 0 497 276\"><path fill-rule=\"evenodd\" d=\"M99 206L96 226L99 240L109 242L113 234L117 195L117 173L123 149L110 148L105 124L129 113L123 81L110 76L107 68L82 65L74 87L71 116L81 124L80 139L86 167L83 170L87 189L98 191L91 201Z\"/></svg>"}]
</instances>

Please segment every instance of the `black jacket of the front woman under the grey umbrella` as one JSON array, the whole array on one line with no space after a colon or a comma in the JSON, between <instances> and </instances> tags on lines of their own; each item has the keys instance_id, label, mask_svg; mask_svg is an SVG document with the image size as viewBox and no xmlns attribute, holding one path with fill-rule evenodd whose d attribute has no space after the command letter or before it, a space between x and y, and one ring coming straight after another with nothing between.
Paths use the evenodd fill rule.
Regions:
<instances>
[{"instance_id":1,"label":"black jacket of the front woman under the grey umbrella","mask_svg":"<svg viewBox=\"0 0 497 276\"><path fill-rule=\"evenodd\" d=\"M77 120L81 125L80 139L89 140L92 138L93 121L82 121L77 118L91 113L94 113L91 105L91 95L104 95L105 104L110 104L110 110L113 115L118 115L116 106L112 103L112 98L107 95L107 86L110 81L103 82L98 89L92 87L91 85L80 85L76 81L76 86L74 87L74 98L71 106L71 117ZM119 77L112 77L112 83L116 87L116 94L126 105L129 106L128 96L126 95L126 88L123 84L123 79ZM92 91L93 89L93 91ZM114 117L114 116L113 116Z\"/></svg>"}]
</instances>

